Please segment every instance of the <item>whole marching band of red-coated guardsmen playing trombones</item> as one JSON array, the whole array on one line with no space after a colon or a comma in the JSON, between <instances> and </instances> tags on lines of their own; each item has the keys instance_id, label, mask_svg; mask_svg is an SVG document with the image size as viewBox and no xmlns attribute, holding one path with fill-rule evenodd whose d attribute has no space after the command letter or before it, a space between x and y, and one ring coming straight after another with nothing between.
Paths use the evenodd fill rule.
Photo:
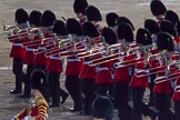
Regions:
<instances>
[{"instance_id":1,"label":"whole marching band of red-coated guardsmen playing trombones","mask_svg":"<svg viewBox=\"0 0 180 120\"><path fill-rule=\"evenodd\" d=\"M10 57L16 76L16 89L10 92L21 93L24 82L20 98L29 98L36 88L50 107L58 107L60 97L61 103L68 97L59 81L67 59L66 88L73 100L71 111L91 114L94 96L108 96L120 120L142 120L142 114L151 120L157 116L159 120L179 120L180 21L160 0L152 0L150 9L158 22L146 19L136 37L132 22L114 12L106 16L108 27L101 27L99 9L86 0L73 2L79 21L69 18L66 23L57 20L50 10L43 13L33 10L29 16L18 9L17 26L13 30L4 28L12 42ZM27 64L26 73L23 64ZM149 104L142 101L146 88L150 88ZM102 114L103 110L97 118Z\"/></svg>"}]
</instances>

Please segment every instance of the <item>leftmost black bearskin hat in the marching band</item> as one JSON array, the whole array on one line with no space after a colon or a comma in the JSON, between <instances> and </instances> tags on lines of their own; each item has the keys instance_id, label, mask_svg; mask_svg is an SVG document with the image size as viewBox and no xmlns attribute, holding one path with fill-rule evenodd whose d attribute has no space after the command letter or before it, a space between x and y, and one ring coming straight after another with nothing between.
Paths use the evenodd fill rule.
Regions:
<instances>
[{"instance_id":1,"label":"leftmost black bearskin hat in the marching band","mask_svg":"<svg viewBox=\"0 0 180 120\"><path fill-rule=\"evenodd\" d=\"M28 12L22 8L17 9L14 14L14 21L17 23L26 23L27 21L29 21Z\"/></svg>"}]
</instances>

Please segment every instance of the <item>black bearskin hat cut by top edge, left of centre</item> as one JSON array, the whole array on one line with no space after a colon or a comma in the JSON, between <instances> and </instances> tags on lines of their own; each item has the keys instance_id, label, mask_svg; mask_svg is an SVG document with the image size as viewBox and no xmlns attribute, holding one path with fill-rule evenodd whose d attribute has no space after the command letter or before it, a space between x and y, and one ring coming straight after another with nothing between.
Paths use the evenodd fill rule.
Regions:
<instances>
[{"instance_id":1,"label":"black bearskin hat cut by top edge, left of centre","mask_svg":"<svg viewBox=\"0 0 180 120\"><path fill-rule=\"evenodd\" d=\"M88 7L87 0L74 0L74 2L73 2L73 11L74 11L74 13L83 13L83 14L86 14L87 7Z\"/></svg>"}]
</instances>

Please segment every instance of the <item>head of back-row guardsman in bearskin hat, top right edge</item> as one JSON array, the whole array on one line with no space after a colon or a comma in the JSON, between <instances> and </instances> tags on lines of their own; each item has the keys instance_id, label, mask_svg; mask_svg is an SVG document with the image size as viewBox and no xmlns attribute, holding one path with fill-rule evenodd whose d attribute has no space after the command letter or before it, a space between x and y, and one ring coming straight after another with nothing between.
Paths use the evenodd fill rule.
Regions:
<instances>
[{"instance_id":1,"label":"head of back-row guardsman in bearskin hat, top right edge","mask_svg":"<svg viewBox=\"0 0 180 120\"><path fill-rule=\"evenodd\" d=\"M166 6L161 0L152 0L150 3L150 10L157 18L157 23L160 24L160 22L164 19L164 13L167 12Z\"/></svg>"}]
</instances>

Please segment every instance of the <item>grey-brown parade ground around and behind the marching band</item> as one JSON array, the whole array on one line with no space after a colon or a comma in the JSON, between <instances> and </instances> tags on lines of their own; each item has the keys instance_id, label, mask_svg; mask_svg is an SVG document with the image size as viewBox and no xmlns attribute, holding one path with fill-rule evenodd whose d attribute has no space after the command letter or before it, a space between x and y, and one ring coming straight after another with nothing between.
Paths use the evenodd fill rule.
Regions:
<instances>
[{"instance_id":1,"label":"grey-brown parade ground around and behind the marching band","mask_svg":"<svg viewBox=\"0 0 180 120\"><path fill-rule=\"evenodd\" d=\"M153 18L149 2L151 0L88 0L89 4L98 7L103 16L108 12L117 12L119 16L128 17L136 28L143 27L146 18ZM168 9L180 13L180 0L163 0ZM23 8L28 12L31 10L52 10L58 19L61 17L76 17L72 9L73 0L0 0L0 29L2 21L6 24L13 26L13 13L16 9ZM1 31L0 31L1 33ZM11 44L0 36L0 120L10 120L17 112L26 107L28 100L20 99L9 93L14 88L14 76L11 71L12 59L9 58ZM26 69L26 68L24 68ZM61 86L64 86L64 76L61 76ZM90 117L71 113L68 108L71 107L71 98L63 106L49 109L48 120L89 120ZM114 120L116 120L114 112ZM143 120L150 120L148 117Z\"/></svg>"}]
</instances>

